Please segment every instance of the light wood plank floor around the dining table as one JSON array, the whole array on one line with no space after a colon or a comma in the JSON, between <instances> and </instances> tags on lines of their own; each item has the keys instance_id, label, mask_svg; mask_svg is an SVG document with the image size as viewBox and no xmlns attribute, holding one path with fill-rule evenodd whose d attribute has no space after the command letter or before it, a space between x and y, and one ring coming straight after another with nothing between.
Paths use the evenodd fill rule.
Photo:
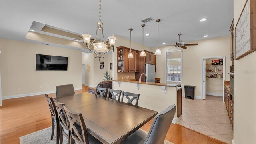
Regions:
<instances>
[{"instance_id":1,"label":"light wood plank floor around the dining table","mask_svg":"<svg viewBox=\"0 0 256 144\"><path fill-rule=\"evenodd\" d=\"M76 93L87 92L89 87ZM48 94L56 97L56 94ZM51 126L50 110L44 95L2 101L0 106L0 144L20 144L19 137ZM153 120L142 126L149 131ZM166 140L175 144L223 144L179 124L171 124Z\"/></svg>"}]
</instances>

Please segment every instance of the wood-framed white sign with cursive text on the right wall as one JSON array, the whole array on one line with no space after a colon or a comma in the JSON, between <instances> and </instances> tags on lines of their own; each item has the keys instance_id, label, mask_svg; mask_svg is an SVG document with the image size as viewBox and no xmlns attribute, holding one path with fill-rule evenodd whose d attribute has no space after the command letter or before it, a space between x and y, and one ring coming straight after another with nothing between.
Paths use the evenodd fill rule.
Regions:
<instances>
[{"instance_id":1,"label":"wood-framed white sign with cursive text on the right wall","mask_svg":"<svg viewBox=\"0 0 256 144\"><path fill-rule=\"evenodd\" d=\"M256 50L256 0L247 0L235 28L235 60Z\"/></svg>"}]
</instances>

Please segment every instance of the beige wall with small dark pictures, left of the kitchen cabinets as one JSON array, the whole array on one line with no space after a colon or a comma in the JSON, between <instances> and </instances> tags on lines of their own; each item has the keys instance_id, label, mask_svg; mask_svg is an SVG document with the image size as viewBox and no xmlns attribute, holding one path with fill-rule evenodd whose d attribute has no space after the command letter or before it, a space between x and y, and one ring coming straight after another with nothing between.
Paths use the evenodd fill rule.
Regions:
<instances>
[{"instance_id":1,"label":"beige wall with small dark pictures, left of the kitchen cabinets","mask_svg":"<svg viewBox=\"0 0 256 144\"><path fill-rule=\"evenodd\" d=\"M103 81L104 74L108 70L110 78L112 77L112 70L110 70L110 62L112 62L112 54L106 54L100 62L104 62L104 69L100 69L100 62L98 58L94 57L94 53L83 54L83 64L86 66L85 71L85 85L96 87L98 83ZM87 65L90 64L90 71L87 71Z\"/></svg>"}]
</instances>

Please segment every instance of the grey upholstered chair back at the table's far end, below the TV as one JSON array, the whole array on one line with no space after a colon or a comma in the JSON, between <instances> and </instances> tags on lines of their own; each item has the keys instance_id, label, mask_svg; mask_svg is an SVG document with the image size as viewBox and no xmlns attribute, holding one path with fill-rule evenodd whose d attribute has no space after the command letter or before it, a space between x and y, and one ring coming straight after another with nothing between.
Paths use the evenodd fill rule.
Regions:
<instances>
[{"instance_id":1,"label":"grey upholstered chair back at the table's far end, below the TV","mask_svg":"<svg viewBox=\"0 0 256 144\"><path fill-rule=\"evenodd\" d=\"M57 97L70 96L70 95L74 95L74 94L75 94L75 90L74 90L73 84L56 86L56 96Z\"/></svg>"}]
</instances>

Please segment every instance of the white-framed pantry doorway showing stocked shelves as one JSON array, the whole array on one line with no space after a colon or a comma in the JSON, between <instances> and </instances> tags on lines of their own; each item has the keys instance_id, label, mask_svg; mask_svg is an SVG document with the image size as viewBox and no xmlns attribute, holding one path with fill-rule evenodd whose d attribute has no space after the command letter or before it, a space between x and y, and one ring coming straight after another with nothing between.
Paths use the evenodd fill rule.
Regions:
<instances>
[{"instance_id":1,"label":"white-framed pantry doorway showing stocked shelves","mask_svg":"<svg viewBox=\"0 0 256 144\"><path fill-rule=\"evenodd\" d=\"M202 98L206 95L222 96L224 102L224 80L226 77L226 57L202 58Z\"/></svg>"}]
</instances>

